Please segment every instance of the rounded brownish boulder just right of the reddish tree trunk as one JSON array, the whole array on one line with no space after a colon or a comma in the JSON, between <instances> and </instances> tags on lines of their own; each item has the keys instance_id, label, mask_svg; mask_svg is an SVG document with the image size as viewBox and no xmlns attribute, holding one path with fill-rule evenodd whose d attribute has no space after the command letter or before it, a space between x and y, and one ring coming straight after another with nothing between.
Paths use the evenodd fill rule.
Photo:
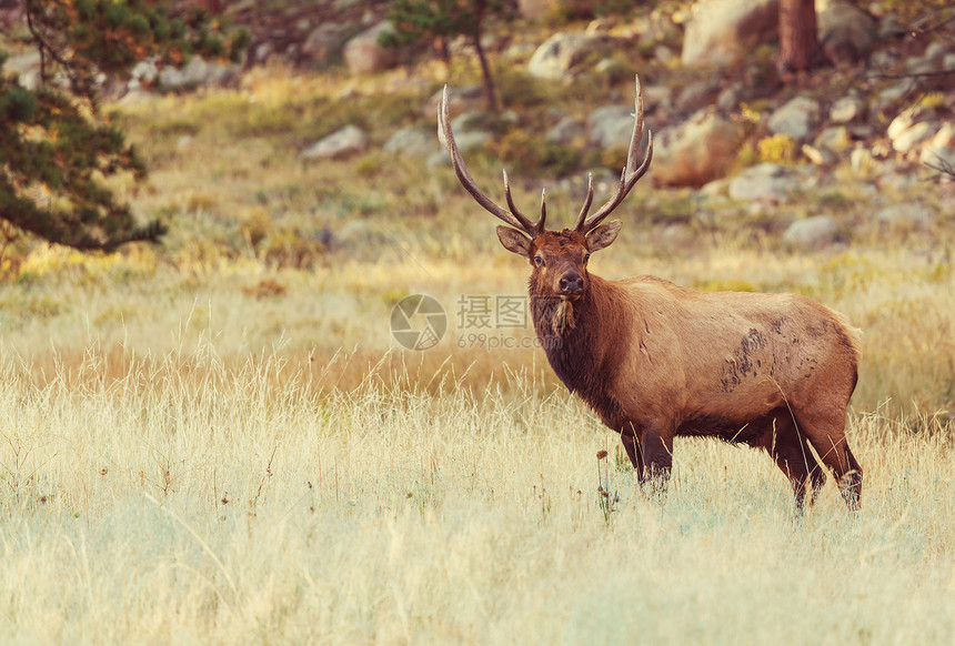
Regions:
<instances>
[{"instance_id":1,"label":"rounded brownish boulder just right of the reddish tree trunk","mask_svg":"<svg viewBox=\"0 0 955 646\"><path fill-rule=\"evenodd\" d=\"M845 0L817 0L820 44L835 64L864 61L876 43L875 20Z\"/></svg>"}]
</instances>

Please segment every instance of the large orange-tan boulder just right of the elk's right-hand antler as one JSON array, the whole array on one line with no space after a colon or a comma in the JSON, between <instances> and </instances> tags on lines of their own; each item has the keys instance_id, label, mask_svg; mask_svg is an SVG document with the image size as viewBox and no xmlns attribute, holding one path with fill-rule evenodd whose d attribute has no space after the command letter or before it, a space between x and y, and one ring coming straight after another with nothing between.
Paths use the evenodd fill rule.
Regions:
<instances>
[{"instance_id":1,"label":"large orange-tan boulder just right of the elk's right-hand antler","mask_svg":"<svg viewBox=\"0 0 955 646\"><path fill-rule=\"evenodd\" d=\"M659 184L702 186L724 175L743 135L741 124L701 110L681 124L654 133L650 173Z\"/></svg>"}]
</instances>

